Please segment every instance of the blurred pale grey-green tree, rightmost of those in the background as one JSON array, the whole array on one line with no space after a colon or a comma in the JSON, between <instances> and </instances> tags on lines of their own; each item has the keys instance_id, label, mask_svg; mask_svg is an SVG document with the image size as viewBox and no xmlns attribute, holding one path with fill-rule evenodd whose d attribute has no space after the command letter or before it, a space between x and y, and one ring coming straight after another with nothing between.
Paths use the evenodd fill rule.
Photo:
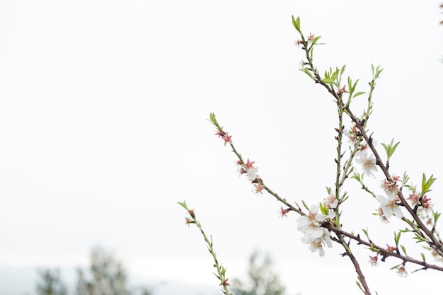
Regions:
<instances>
[{"instance_id":1,"label":"blurred pale grey-green tree, rightmost of those in the background","mask_svg":"<svg viewBox=\"0 0 443 295\"><path fill-rule=\"evenodd\" d=\"M278 275L272 270L272 260L269 255L258 262L258 251L249 258L248 282L234 279L232 286L236 295L282 295L286 289Z\"/></svg>"}]
</instances>

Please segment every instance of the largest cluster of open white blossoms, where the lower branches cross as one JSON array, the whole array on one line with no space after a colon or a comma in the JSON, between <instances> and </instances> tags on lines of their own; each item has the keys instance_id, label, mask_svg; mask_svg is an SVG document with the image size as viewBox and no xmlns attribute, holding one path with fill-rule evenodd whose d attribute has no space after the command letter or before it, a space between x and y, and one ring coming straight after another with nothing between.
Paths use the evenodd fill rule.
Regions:
<instances>
[{"instance_id":1,"label":"largest cluster of open white blossoms, where the lower branches cross","mask_svg":"<svg viewBox=\"0 0 443 295\"><path fill-rule=\"evenodd\" d=\"M328 219L325 214L318 213L320 209L318 204L314 204L309 208L309 214L299 216L297 219L297 229L304 233L301 238L303 243L309 245L309 250L315 252L318 250L320 256L325 255L324 245L332 248L332 241L328 229L321 227L323 221Z\"/></svg>"}]
</instances>

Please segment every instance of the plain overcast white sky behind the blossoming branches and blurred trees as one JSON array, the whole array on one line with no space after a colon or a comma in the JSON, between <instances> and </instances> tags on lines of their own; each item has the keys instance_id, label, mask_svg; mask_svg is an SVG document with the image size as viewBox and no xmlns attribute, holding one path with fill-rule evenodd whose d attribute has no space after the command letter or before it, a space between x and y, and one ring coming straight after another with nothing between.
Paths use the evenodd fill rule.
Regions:
<instances>
[{"instance_id":1,"label":"plain overcast white sky behind the blossoming branches and blurred trees","mask_svg":"<svg viewBox=\"0 0 443 295\"><path fill-rule=\"evenodd\" d=\"M292 294L323 294L319 282L355 294L341 249L310 253L297 216L278 218L280 204L251 192L206 119L217 114L282 197L326 197L335 106L298 71L291 15L301 16L302 30L326 43L316 50L321 71L346 64L367 91L371 64L384 68L369 128L379 142L401 141L393 173L407 170L415 183L434 173L430 197L442 208L439 4L0 1L0 264L86 265L100 244L146 279L215 285L200 233L176 204L186 199L228 277L241 276L258 248ZM357 187L349 188L348 229L391 238L370 216L376 201ZM371 268L367 255L361 261L379 294L436 286L417 284L422 274L386 271L394 261Z\"/></svg>"}]
</instances>

